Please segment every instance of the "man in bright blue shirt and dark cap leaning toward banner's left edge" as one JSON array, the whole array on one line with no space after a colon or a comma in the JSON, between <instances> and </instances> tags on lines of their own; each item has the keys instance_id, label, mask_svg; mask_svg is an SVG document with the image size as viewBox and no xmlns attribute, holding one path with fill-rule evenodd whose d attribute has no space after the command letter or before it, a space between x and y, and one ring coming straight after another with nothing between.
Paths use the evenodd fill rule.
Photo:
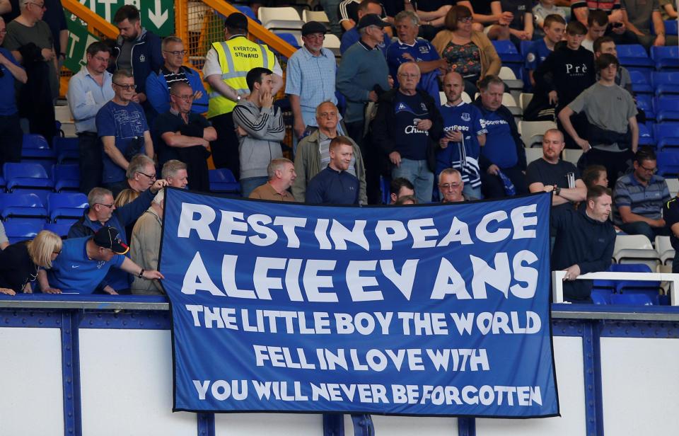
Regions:
<instances>
[{"instance_id":1,"label":"man in bright blue shirt and dark cap leaning toward banner's left edge","mask_svg":"<svg viewBox=\"0 0 679 436\"><path fill-rule=\"evenodd\" d=\"M52 262L52 268L38 272L40 290L47 294L92 294L111 267L145 280L165 278L160 272L144 270L125 257L128 250L118 230L113 227L102 227L90 238L66 239L57 260ZM107 294L117 294L110 285L105 285L102 290Z\"/></svg>"}]
</instances>

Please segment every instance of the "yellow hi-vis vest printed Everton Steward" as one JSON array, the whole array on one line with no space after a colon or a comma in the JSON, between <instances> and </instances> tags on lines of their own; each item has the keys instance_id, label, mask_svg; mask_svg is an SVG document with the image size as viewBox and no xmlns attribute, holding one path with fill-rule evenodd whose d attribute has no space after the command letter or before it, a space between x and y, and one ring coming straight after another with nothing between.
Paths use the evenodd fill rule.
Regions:
<instances>
[{"instance_id":1,"label":"yellow hi-vis vest printed Everton Steward","mask_svg":"<svg viewBox=\"0 0 679 436\"><path fill-rule=\"evenodd\" d=\"M257 44L245 38L237 36L227 41L213 42L212 48L219 56L221 66L221 79L240 95L250 93L245 76L248 71L255 67L274 69L274 53L264 44ZM216 90L208 86L209 103L207 117L215 117L229 113L236 107L236 102L222 96Z\"/></svg>"}]
</instances>

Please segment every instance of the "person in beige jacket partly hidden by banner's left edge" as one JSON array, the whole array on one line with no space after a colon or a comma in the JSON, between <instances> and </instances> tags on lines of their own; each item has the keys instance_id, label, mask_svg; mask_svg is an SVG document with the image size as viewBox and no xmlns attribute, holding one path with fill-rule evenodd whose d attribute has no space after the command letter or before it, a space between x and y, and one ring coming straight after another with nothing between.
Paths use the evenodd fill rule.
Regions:
<instances>
[{"instance_id":1,"label":"person in beige jacket partly hidden by banner's left edge","mask_svg":"<svg viewBox=\"0 0 679 436\"><path fill-rule=\"evenodd\" d=\"M163 207L165 190L161 189L153 197L151 206L134 224L129 243L129 257L144 270L158 269L158 253L161 250L161 235L163 233ZM132 294L161 295L163 287L158 280L144 280L134 277Z\"/></svg>"}]
</instances>

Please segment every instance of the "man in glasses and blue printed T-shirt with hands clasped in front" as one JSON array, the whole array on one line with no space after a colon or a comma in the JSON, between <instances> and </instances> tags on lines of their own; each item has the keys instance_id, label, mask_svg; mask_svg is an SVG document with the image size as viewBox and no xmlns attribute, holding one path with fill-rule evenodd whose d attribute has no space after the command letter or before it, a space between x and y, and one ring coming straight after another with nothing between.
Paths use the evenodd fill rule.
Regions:
<instances>
[{"instance_id":1,"label":"man in glasses and blue printed T-shirt with hands clasped in front","mask_svg":"<svg viewBox=\"0 0 679 436\"><path fill-rule=\"evenodd\" d=\"M127 188L125 170L137 154L153 159L153 142L144 109L134 103L134 77L119 69L112 77L115 96L97 113L97 134L103 144L103 185L117 197Z\"/></svg>"}]
</instances>

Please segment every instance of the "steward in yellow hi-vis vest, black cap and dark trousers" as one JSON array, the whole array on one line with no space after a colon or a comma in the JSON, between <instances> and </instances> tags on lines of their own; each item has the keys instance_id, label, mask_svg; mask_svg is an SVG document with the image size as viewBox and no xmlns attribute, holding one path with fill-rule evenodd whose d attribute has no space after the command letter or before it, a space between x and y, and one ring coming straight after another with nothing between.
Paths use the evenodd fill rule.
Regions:
<instances>
[{"instance_id":1,"label":"steward in yellow hi-vis vest, black cap and dark trousers","mask_svg":"<svg viewBox=\"0 0 679 436\"><path fill-rule=\"evenodd\" d=\"M283 87L283 70L267 45L248 40L248 18L242 13L234 12L226 18L224 39L212 43L203 67L209 85L207 117L217 131L217 139L211 142L214 166L230 169L238 180L238 137L232 112L250 93L245 76L255 67L273 71L271 92L275 96Z\"/></svg>"}]
</instances>

